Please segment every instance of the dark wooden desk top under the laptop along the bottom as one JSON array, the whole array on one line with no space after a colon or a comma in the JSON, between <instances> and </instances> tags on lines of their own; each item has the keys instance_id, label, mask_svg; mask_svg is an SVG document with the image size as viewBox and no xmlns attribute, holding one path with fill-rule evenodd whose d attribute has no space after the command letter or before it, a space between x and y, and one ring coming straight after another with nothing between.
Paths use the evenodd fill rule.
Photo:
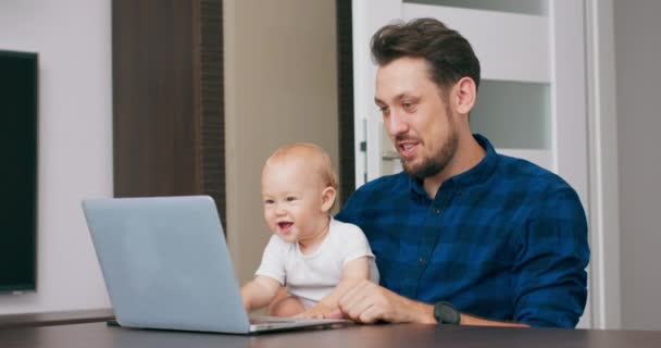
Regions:
<instances>
[{"instance_id":1,"label":"dark wooden desk top under the laptop along the bottom","mask_svg":"<svg viewBox=\"0 0 661 348\"><path fill-rule=\"evenodd\" d=\"M661 332L349 325L258 336L110 327L103 323L0 330L2 348L661 347Z\"/></svg>"}]
</instances>

